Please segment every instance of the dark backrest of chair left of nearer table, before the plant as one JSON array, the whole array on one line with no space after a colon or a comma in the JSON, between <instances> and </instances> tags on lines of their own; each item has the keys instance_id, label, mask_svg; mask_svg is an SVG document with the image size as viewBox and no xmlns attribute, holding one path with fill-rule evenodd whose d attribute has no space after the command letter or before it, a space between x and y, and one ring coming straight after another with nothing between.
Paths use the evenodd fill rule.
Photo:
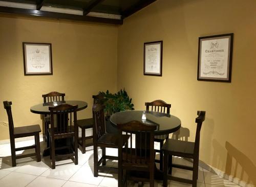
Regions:
<instances>
[{"instance_id":1,"label":"dark backrest of chair left of nearer table, before the plant","mask_svg":"<svg viewBox=\"0 0 256 187\"><path fill-rule=\"evenodd\" d=\"M104 105L95 103L93 105L93 139L97 141L103 134L105 134L105 117Z\"/></svg>"}]
</instances>

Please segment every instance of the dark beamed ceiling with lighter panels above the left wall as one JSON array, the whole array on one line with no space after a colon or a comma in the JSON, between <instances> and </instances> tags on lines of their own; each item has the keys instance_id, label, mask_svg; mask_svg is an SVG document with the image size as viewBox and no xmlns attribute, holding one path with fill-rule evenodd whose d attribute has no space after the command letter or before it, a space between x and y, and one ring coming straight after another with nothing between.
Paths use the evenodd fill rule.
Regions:
<instances>
[{"instance_id":1,"label":"dark beamed ceiling with lighter panels above the left wall","mask_svg":"<svg viewBox=\"0 0 256 187\"><path fill-rule=\"evenodd\" d=\"M157 0L6 0L0 13L122 25L123 19Z\"/></svg>"}]
</instances>

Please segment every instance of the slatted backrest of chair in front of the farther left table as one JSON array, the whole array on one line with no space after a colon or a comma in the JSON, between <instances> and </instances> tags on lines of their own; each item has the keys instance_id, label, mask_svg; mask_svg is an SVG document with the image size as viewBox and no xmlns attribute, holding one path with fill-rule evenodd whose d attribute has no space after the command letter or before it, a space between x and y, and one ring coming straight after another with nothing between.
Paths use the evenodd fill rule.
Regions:
<instances>
[{"instance_id":1,"label":"slatted backrest of chair in front of the farther left table","mask_svg":"<svg viewBox=\"0 0 256 187\"><path fill-rule=\"evenodd\" d=\"M58 106L49 106L50 116L51 116L51 135L64 135L73 133L77 131L77 115L76 109L77 105L60 104ZM72 124L72 114L74 118L74 123ZM54 121L54 115L56 116L56 121ZM56 124L55 124L56 122ZM54 127L54 128L53 128ZM77 129L77 130L76 130Z\"/></svg>"}]
</instances>

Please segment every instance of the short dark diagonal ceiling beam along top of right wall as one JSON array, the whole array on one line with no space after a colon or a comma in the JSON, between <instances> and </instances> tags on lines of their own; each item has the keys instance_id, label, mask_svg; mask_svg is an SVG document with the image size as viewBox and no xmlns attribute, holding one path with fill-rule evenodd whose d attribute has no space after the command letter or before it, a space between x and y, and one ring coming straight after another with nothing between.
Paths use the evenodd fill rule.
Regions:
<instances>
[{"instance_id":1,"label":"short dark diagonal ceiling beam along top of right wall","mask_svg":"<svg viewBox=\"0 0 256 187\"><path fill-rule=\"evenodd\" d=\"M122 11L122 19L125 17L129 17L130 15L134 14L135 12L138 12L139 10L143 9L144 7L154 3L157 0L141 0L137 4L131 6L130 8L127 8L126 10Z\"/></svg>"}]
</instances>

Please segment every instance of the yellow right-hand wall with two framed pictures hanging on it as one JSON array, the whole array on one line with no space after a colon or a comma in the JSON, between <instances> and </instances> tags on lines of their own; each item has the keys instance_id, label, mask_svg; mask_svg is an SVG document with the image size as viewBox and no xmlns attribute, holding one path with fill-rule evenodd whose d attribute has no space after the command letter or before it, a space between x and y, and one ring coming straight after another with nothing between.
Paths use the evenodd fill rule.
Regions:
<instances>
[{"instance_id":1,"label":"yellow right-hand wall with two framed pictures hanging on it","mask_svg":"<svg viewBox=\"0 0 256 187\"><path fill-rule=\"evenodd\" d=\"M117 88L135 109L162 99L190 130L206 110L200 160L256 185L256 1L158 0L118 30ZM232 82L197 81L198 37L234 33ZM143 43L163 40L163 76L143 76Z\"/></svg>"}]
</instances>

